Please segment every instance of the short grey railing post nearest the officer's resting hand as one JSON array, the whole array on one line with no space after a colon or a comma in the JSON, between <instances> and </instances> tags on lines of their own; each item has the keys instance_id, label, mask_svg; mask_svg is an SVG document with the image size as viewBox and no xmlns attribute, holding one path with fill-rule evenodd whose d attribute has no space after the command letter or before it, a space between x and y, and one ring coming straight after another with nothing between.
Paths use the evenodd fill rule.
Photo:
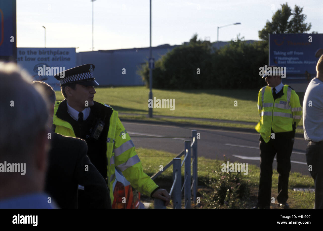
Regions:
<instances>
[{"instance_id":1,"label":"short grey railing post nearest the officer's resting hand","mask_svg":"<svg viewBox=\"0 0 323 231\"><path fill-rule=\"evenodd\" d=\"M173 182L175 180L175 174L177 172L177 179L173 189L173 203L174 208L182 208L182 166L181 158L173 159Z\"/></svg>"}]
</instances>

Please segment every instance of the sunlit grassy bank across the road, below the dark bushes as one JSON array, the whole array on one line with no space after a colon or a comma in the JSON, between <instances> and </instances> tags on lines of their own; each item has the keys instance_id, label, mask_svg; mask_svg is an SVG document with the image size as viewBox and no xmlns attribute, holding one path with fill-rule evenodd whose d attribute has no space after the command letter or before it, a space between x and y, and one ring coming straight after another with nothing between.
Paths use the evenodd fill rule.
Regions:
<instances>
[{"instance_id":1,"label":"sunlit grassy bank across the road, below the dark bushes","mask_svg":"<svg viewBox=\"0 0 323 231\"><path fill-rule=\"evenodd\" d=\"M145 115L148 114L149 93L149 89L146 87L96 88L96 91L95 101L109 104L113 109L121 113L140 114L142 115L141 119L146 119ZM244 121L256 124L259 121L257 95L258 90L244 89L182 91L153 89L153 97L156 97L156 99L175 99L174 110L170 110L170 108L153 108L153 113L154 115L160 116ZM301 93L299 96L302 102L303 94ZM56 91L56 97L57 100L63 99L59 91ZM235 101L237 106L234 106ZM129 118L129 116L120 117ZM181 119L181 121L192 123L192 119ZM194 123L216 125L215 122L199 120L194 121ZM302 121L299 125L302 125ZM238 125L234 123L227 123L224 126L254 128L254 125ZM302 132L302 129L299 132Z\"/></svg>"}]
</instances>

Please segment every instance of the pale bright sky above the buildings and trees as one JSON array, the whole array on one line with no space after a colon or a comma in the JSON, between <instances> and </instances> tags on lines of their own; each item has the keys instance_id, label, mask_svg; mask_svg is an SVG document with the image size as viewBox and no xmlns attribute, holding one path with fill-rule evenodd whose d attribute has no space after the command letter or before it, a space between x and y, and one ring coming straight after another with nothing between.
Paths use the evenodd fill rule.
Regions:
<instances>
[{"instance_id":1,"label":"pale bright sky above the buildings and trees","mask_svg":"<svg viewBox=\"0 0 323 231\"><path fill-rule=\"evenodd\" d=\"M96 0L94 51L150 46L149 0ZM152 0L151 45L188 42L194 33L211 42L230 41L237 34L259 40L258 31L287 2L303 7L309 32L323 33L322 0ZM76 47L92 50L92 2L90 0L16 0L17 47ZM308 32L308 33L309 33Z\"/></svg>"}]
</instances>

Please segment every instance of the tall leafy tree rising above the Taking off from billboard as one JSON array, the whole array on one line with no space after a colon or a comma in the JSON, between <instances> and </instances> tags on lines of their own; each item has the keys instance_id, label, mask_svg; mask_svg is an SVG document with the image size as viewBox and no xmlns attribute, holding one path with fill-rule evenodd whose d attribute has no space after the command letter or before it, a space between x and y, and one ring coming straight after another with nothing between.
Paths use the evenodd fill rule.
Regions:
<instances>
[{"instance_id":1,"label":"tall leafy tree rising above the Taking off from billboard","mask_svg":"<svg viewBox=\"0 0 323 231\"><path fill-rule=\"evenodd\" d=\"M272 22L267 20L265 27L258 31L259 38L268 42L268 34L304 33L311 29L311 23L304 23L306 15L301 14L303 8L295 5L294 11L286 4L281 5L272 17ZM292 18L289 20L289 18Z\"/></svg>"}]
</instances>

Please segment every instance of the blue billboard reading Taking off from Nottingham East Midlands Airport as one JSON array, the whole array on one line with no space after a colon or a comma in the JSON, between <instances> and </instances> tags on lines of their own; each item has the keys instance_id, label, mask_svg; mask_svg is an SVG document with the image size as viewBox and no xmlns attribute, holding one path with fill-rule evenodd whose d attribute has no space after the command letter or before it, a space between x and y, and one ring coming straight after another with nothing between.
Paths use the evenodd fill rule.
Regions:
<instances>
[{"instance_id":1,"label":"blue billboard reading Taking off from Nottingham East Midlands Airport","mask_svg":"<svg viewBox=\"0 0 323 231\"><path fill-rule=\"evenodd\" d=\"M269 34L269 65L286 67L287 78L316 76L323 34Z\"/></svg>"}]
</instances>

